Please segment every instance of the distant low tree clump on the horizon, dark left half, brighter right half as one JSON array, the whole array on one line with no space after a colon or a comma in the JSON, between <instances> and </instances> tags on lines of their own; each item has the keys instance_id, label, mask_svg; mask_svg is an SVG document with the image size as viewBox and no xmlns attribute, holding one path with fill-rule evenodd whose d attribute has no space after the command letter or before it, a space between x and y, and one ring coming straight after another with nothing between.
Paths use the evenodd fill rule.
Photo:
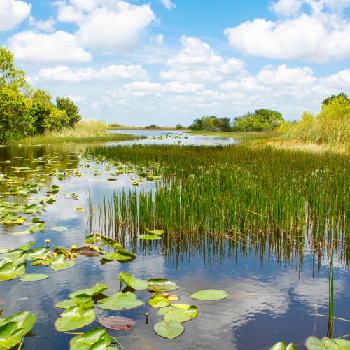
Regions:
<instances>
[{"instance_id":1,"label":"distant low tree clump on the horizon, dark left half, brighter right half","mask_svg":"<svg viewBox=\"0 0 350 350\"><path fill-rule=\"evenodd\" d=\"M193 131L222 131L222 132L260 132L276 130L284 122L281 113L271 109L256 109L255 113L246 112L243 116L217 118L205 116L193 120L188 129Z\"/></svg>"}]
</instances>

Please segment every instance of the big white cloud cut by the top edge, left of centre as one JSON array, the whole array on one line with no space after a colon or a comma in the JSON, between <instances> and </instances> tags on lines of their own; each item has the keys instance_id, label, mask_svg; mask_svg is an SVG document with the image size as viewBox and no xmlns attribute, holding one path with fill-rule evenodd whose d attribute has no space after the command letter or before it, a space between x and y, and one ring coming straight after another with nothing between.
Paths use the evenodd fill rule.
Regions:
<instances>
[{"instance_id":1,"label":"big white cloud cut by the top edge, left of centre","mask_svg":"<svg viewBox=\"0 0 350 350\"><path fill-rule=\"evenodd\" d=\"M127 54L139 45L142 31L155 20L150 4L124 1L57 1L57 20L77 23L78 43L95 52ZM88 12L86 12L88 11Z\"/></svg>"}]
</instances>

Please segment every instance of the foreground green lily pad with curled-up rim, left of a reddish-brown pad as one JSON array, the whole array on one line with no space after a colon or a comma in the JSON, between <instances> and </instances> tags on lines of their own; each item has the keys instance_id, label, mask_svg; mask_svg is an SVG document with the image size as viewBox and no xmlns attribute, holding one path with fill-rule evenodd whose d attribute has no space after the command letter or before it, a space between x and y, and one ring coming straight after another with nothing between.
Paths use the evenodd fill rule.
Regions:
<instances>
[{"instance_id":1,"label":"foreground green lily pad with curled-up rim, left of a reddish-brown pad","mask_svg":"<svg viewBox=\"0 0 350 350\"><path fill-rule=\"evenodd\" d=\"M69 332L69 330L75 330L83 328L85 325L90 325L96 318L94 311L89 308L85 309L83 304L76 307L70 307L61 314L61 318L58 318L55 327L59 332Z\"/></svg>"}]
</instances>

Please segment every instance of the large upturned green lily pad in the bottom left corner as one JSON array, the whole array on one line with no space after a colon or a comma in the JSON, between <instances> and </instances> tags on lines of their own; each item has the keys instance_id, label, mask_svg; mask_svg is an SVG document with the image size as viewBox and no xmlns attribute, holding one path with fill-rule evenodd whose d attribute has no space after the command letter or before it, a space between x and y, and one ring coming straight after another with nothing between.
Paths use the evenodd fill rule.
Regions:
<instances>
[{"instance_id":1,"label":"large upturned green lily pad in the bottom left corner","mask_svg":"<svg viewBox=\"0 0 350 350\"><path fill-rule=\"evenodd\" d=\"M4 320L0 319L0 349L7 350L20 343L33 328L36 316L30 312L19 312ZM18 349L20 349L22 342Z\"/></svg>"}]
</instances>

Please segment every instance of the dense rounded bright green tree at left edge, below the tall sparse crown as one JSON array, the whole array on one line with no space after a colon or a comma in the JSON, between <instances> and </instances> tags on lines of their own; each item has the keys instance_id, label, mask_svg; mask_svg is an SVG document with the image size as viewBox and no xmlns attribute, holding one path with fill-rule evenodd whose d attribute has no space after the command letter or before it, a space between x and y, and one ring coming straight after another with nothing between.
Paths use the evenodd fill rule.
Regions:
<instances>
[{"instance_id":1,"label":"dense rounded bright green tree at left edge, below the tall sparse crown","mask_svg":"<svg viewBox=\"0 0 350 350\"><path fill-rule=\"evenodd\" d=\"M0 85L0 141L19 139L33 130L29 102L13 87Z\"/></svg>"}]
</instances>

